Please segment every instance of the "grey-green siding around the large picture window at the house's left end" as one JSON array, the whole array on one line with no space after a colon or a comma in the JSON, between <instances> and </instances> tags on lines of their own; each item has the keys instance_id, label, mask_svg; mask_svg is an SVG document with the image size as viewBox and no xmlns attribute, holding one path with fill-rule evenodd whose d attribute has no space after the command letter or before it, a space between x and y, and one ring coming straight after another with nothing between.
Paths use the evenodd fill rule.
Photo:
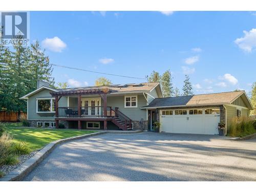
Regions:
<instances>
[{"instance_id":1,"label":"grey-green siding around the large picture window at the house's left end","mask_svg":"<svg viewBox=\"0 0 256 192\"><path fill-rule=\"evenodd\" d=\"M36 98L52 98L50 90L44 89L28 99L28 119L29 120L54 120L55 113L36 113ZM67 106L67 97L61 97L59 106Z\"/></svg>"}]
</instances>

